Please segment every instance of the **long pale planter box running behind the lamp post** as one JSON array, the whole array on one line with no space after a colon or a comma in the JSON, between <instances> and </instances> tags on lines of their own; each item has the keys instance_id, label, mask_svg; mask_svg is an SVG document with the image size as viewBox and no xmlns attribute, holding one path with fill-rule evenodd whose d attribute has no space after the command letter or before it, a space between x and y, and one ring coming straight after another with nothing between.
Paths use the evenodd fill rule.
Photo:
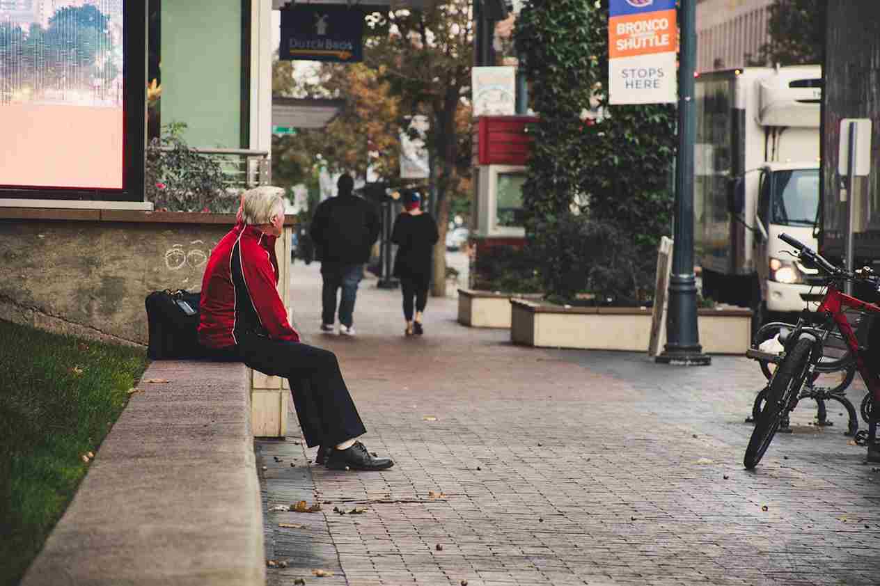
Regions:
<instances>
[{"instance_id":1,"label":"long pale planter box running behind the lamp post","mask_svg":"<svg viewBox=\"0 0 880 586\"><path fill-rule=\"evenodd\" d=\"M647 352L651 311L638 307L562 307L511 299L510 339L541 348ZM752 311L700 309L697 327L703 352L745 354Z\"/></svg>"}]
</instances>

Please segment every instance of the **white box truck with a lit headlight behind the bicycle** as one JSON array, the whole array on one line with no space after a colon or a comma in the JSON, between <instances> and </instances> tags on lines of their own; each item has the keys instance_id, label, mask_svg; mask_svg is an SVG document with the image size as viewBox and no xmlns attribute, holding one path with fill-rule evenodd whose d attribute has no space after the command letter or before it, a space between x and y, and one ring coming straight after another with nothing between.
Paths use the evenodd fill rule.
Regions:
<instances>
[{"instance_id":1,"label":"white box truck with a lit headlight behind the bicycle","mask_svg":"<svg viewBox=\"0 0 880 586\"><path fill-rule=\"evenodd\" d=\"M822 70L745 68L696 79L694 259L703 297L768 312L801 311L815 269L785 253L781 232L817 248Z\"/></svg>"}]
</instances>

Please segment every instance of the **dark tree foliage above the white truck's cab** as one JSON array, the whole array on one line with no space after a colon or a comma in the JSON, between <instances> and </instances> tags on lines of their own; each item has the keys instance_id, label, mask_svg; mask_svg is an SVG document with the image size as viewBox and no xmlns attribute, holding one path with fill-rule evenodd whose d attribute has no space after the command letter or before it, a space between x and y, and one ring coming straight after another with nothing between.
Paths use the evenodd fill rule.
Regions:
<instances>
[{"instance_id":1,"label":"dark tree foliage above the white truck's cab","mask_svg":"<svg viewBox=\"0 0 880 586\"><path fill-rule=\"evenodd\" d=\"M770 5L770 35L750 59L752 65L808 65L823 62L827 0L774 0Z\"/></svg>"}]
</instances>

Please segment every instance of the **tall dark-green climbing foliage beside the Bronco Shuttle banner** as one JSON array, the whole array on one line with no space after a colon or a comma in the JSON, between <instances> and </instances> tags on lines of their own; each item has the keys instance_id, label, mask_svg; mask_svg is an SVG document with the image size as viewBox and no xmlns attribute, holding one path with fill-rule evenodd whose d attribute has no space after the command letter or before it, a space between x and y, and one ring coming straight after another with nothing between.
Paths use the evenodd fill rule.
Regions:
<instances>
[{"instance_id":1,"label":"tall dark-green climbing foliage beside the Bronco Shuttle banner","mask_svg":"<svg viewBox=\"0 0 880 586\"><path fill-rule=\"evenodd\" d=\"M546 294L573 300L586 278L574 277L587 262L579 255L592 254L569 239L574 211L608 223L617 245L650 259L670 232L675 108L608 106L607 0L532 0L515 42L539 114L523 188L526 234L541 251ZM613 297L642 297L641 285L631 284L629 293L612 287Z\"/></svg>"}]
</instances>

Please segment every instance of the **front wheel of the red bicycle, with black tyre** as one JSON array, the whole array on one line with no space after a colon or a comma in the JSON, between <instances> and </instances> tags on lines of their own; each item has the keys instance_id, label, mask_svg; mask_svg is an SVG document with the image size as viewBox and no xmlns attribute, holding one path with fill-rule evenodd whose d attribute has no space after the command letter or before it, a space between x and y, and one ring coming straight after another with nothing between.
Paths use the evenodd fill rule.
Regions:
<instances>
[{"instance_id":1,"label":"front wheel of the red bicycle, with black tyre","mask_svg":"<svg viewBox=\"0 0 880 586\"><path fill-rule=\"evenodd\" d=\"M770 381L766 403L761 409L758 421L755 421L749 446L745 449L743 465L746 468L751 470L758 465L770 442L773 441L780 421L797 400L803 379L807 375L812 345L813 342L807 338L796 341L795 347L786 355L779 369L776 370L773 380Z\"/></svg>"}]
</instances>

